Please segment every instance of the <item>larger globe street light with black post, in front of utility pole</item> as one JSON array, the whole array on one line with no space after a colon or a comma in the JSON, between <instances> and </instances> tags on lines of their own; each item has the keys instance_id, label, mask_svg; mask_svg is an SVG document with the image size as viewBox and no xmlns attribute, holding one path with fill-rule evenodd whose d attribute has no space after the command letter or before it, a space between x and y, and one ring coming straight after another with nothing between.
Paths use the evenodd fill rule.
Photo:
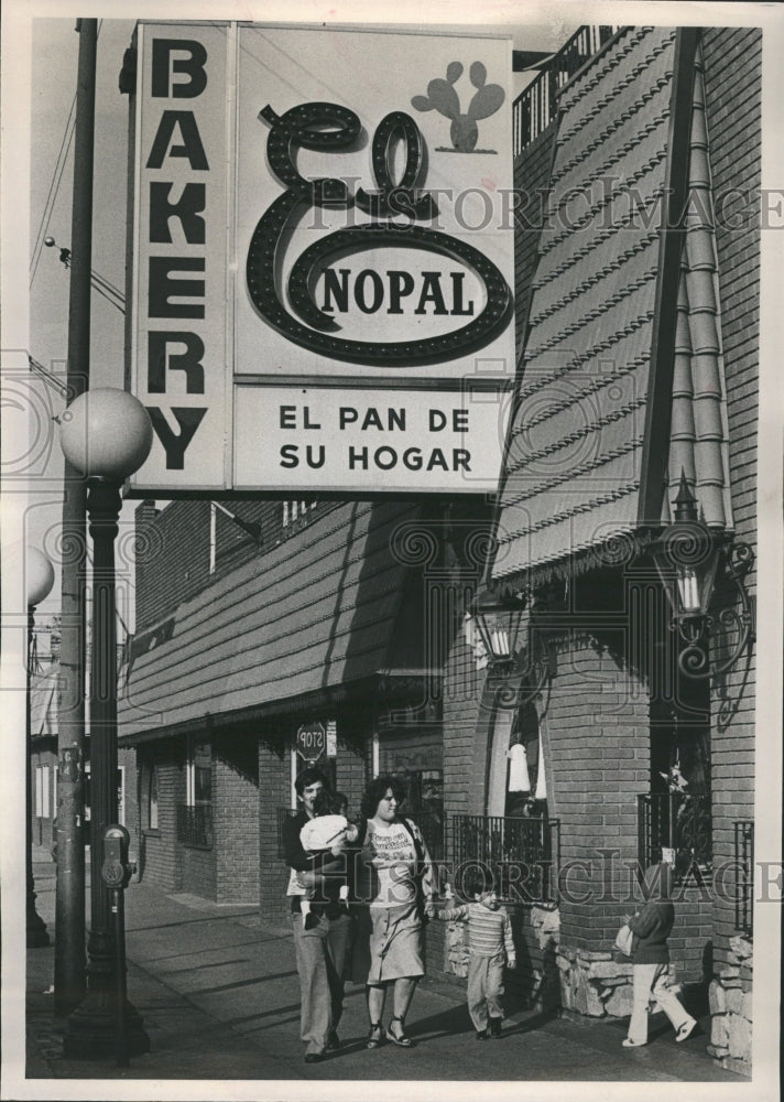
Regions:
<instances>
[{"instance_id":1,"label":"larger globe street light with black post, in front of utility pole","mask_svg":"<svg viewBox=\"0 0 784 1102\"><path fill-rule=\"evenodd\" d=\"M92 539L92 647L90 663L90 933L87 996L68 1019L63 1055L101 1059L116 1050L116 960L111 893L101 880L107 827L117 822L117 634L115 538L124 479L150 454L152 423L141 402L111 387L87 390L68 407L61 445L87 478L87 516ZM119 964L117 965L120 966ZM124 965L122 965L124 966ZM126 1005L128 1055L146 1052L150 1040L140 1015Z\"/></svg>"}]
</instances>

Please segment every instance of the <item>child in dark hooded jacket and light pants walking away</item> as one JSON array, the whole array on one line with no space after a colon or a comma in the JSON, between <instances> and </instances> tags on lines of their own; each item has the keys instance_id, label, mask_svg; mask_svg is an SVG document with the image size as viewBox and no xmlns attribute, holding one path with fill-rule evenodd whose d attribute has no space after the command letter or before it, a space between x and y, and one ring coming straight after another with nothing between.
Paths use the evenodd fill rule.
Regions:
<instances>
[{"instance_id":1,"label":"child in dark hooded jacket and light pants walking away","mask_svg":"<svg viewBox=\"0 0 784 1102\"><path fill-rule=\"evenodd\" d=\"M629 1035L622 1041L624 1048L647 1044L647 1004L651 998L656 1000L672 1022L675 1040L686 1040L697 1025L696 1019L682 1006L675 992L667 986L667 938L675 921L672 865L664 862L651 865L645 869L644 885L646 901L633 918L627 918L634 934L634 988Z\"/></svg>"}]
</instances>

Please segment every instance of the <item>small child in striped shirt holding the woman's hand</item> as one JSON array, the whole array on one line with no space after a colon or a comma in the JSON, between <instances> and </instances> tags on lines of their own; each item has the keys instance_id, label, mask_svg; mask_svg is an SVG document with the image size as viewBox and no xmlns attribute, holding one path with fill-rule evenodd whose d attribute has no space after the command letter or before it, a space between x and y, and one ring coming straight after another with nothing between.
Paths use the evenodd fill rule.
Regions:
<instances>
[{"instance_id":1,"label":"small child in striped shirt holding the woman's hand","mask_svg":"<svg viewBox=\"0 0 784 1102\"><path fill-rule=\"evenodd\" d=\"M503 965L516 966L512 923L499 907L492 873L481 865L466 869L461 907L442 910L438 918L468 922L468 1013L477 1040L501 1036Z\"/></svg>"}]
</instances>

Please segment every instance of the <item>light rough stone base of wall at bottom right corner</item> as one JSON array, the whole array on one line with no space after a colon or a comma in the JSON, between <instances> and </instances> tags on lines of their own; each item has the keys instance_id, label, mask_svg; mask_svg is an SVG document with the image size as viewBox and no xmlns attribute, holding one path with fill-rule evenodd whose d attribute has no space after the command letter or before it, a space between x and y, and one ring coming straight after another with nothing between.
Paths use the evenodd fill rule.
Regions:
<instances>
[{"instance_id":1,"label":"light rough stone base of wall at bottom right corner","mask_svg":"<svg viewBox=\"0 0 784 1102\"><path fill-rule=\"evenodd\" d=\"M753 946L743 937L730 938L729 964L708 988L710 1044L708 1052L722 1068L751 1074L751 988Z\"/></svg>"}]
</instances>

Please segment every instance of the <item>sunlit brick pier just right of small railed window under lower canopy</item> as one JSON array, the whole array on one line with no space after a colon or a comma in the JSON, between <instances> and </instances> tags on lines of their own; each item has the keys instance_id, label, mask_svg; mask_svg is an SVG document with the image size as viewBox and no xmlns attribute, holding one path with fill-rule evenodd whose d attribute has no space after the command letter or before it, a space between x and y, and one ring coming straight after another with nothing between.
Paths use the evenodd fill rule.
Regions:
<instances>
[{"instance_id":1,"label":"sunlit brick pier just right of small railed window under lower canopy","mask_svg":"<svg viewBox=\"0 0 784 1102\"><path fill-rule=\"evenodd\" d=\"M213 744L213 824L218 903L259 899L259 754L254 732Z\"/></svg>"}]
</instances>

